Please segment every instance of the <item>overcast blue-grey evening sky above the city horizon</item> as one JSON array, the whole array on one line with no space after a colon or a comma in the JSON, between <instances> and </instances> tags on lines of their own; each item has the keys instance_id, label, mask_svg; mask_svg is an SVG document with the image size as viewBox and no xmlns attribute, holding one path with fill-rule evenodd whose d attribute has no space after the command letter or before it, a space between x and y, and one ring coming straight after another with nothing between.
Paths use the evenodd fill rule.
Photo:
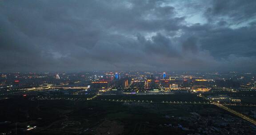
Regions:
<instances>
[{"instance_id":1,"label":"overcast blue-grey evening sky above the city horizon","mask_svg":"<svg viewBox=\"0 0 256 135\"><path fill-rule=\"evenodd\" d=\"M256 0L1 0L0 71L253 70Z\"/></svg>"}]
</instances>

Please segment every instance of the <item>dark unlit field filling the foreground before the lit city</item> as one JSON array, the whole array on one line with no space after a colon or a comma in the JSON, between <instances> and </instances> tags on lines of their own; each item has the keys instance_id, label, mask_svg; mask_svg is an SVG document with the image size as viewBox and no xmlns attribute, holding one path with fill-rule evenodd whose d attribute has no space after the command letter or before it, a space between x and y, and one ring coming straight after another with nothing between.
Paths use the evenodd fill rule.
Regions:
<instances>
[{"instance_id":1,"label":"dark unlit field filling the foreground before the lit city","mask_svg":"<svg viewBox=\"0 0 256 135\"><path fill-rule=\"evenodd\" d=\"M244 120L212 104L160 103L161 100L203 101L196 95L131 95L125 98L104 95L97 98L103 97L148 99L159 103L12 97L0 100L0 122L9 121L0 124L0 132L12 131L11 135L15 135L17 123L18 135L187 135L200 133L199 128L205 131L211 127L220 129L210 131L218 134L232 133L230 127L234 122L249 129L248 133L252 132ZM229 126L223 126L223 122ZM26 131L28 125L36 128Z\"/></svg>"}]
</instances>

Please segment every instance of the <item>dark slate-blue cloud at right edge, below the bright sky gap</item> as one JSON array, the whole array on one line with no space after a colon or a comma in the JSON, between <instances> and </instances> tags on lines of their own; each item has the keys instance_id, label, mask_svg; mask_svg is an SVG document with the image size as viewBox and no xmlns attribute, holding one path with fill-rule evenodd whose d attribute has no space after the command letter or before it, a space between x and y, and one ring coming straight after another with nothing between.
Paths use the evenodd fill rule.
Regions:
<instances>
[{"instance_id":1,"label":"dark slate-blue cloud at right edge, below the bright sky gap","mask_svg":"<svg viewBox=\"0 0 256 135\"><path fill-rule=\"evenodd\" d=\"M201 41L202 48L210 50L213 56L221 58L232 54L245 57L256 56L255 32L256 29L253 27L212 30L211 34L205 35Z\"/></svg>"}]
</instances>

